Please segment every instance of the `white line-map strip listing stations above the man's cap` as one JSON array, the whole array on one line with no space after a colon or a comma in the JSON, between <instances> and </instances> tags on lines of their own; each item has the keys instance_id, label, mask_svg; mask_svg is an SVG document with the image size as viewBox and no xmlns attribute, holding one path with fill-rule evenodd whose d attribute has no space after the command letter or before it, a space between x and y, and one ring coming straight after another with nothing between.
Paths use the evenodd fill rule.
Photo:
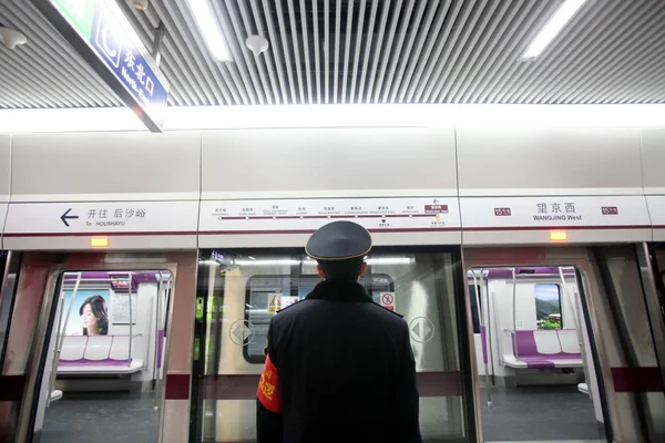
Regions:
<instances>
[{"instance_id":1,"label":"white line-map strip listing stations above the man's cap","mask_svg":"<svg viewBox=\"0 0 665 443\"><path fill-rule=\"evenodd\" d=\"M457 199L440 200L405 197L202 202L200 230L218 235L299 234L335 220L351 220L371 233L459 230Z\"/></svg>"}]
</instances>

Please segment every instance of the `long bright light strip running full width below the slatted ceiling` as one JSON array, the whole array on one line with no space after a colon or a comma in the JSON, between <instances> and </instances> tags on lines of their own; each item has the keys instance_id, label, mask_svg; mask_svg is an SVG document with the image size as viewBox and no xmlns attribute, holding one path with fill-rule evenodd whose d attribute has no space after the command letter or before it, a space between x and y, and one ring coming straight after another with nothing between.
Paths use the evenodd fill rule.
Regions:
<instances>
[{"instance_id":1,"label":"long bright light strip running full width below the slatted ceiling","mask_svg":"<svg viewBox=\"0 0 665 443\"><path fill-rule=\"evenodd\" d=\"M401 107L400 107L401 106ZM375 115L381 115L379 122ZM255 119L259 115L260 119ZM399 121L398 121L399 120ZM266 122L269 122L266 123ZM444 122L444 123L443 123ZM519 123L519 124L518 124ZM165 130L264 127L662 127L664 104L168 106ZM146 132L129 107L0 110L0 133Z\"/></svg>"}]
</instances>

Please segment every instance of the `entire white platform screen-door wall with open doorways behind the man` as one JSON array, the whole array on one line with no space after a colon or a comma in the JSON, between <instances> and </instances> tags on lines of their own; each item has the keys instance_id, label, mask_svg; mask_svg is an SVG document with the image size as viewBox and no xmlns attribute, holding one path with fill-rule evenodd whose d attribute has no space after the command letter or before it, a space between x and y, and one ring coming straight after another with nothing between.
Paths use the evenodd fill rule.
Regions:
<instances>
[{"instance_id":1,"label":"entire white platform screen-door wall with open doorways behind the man","mask_svg":"<svg viewBox=\"0 0 665 443\"><path fill-rule=\"evenodd\" d=\"M318 281L310 233L350 219L375 241L361 284L409 324L426 442L659 441L662 146L640 127L17 134L0 435L255 441L267 324ZM83 331L94 296L105 334Z\"/></svg>"}]
</instances>

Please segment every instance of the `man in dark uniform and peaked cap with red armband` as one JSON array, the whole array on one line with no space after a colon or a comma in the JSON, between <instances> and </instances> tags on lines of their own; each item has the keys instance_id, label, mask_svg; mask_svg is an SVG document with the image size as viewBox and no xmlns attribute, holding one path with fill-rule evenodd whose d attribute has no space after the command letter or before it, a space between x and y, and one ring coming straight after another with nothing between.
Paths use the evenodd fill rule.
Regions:
<instances>
[{"instance_id":1,"label":"man in dark uniform and peaked cap with red armband","mask_svg":"<svg viewBox=\"0 0 665 443\"><path fill-rule=\"evenodd\" d=\"M324 281L270 321L259 443L421 441L407 322L358 284L370 249L369 233L350 222L307 243Z\"/></svg>"}]
</instances>

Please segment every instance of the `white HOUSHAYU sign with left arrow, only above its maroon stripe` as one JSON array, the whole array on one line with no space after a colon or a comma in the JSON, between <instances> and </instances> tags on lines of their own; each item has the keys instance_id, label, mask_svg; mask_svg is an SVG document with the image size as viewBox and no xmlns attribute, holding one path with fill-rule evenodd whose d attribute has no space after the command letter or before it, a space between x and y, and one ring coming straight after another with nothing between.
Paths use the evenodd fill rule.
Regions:
<instances>
[{"instance_id":1,"label":"white HOUSHAYU sign with left arrow, only above its maroon stripe","mask_svg":"<svg viewBox=\"0 0 665 443\"><path fill-rule=\"evenodd\" d=\"M198 202L10 204L4 234L140 235L196 231Z\"/></svg>"}]
</instances>

